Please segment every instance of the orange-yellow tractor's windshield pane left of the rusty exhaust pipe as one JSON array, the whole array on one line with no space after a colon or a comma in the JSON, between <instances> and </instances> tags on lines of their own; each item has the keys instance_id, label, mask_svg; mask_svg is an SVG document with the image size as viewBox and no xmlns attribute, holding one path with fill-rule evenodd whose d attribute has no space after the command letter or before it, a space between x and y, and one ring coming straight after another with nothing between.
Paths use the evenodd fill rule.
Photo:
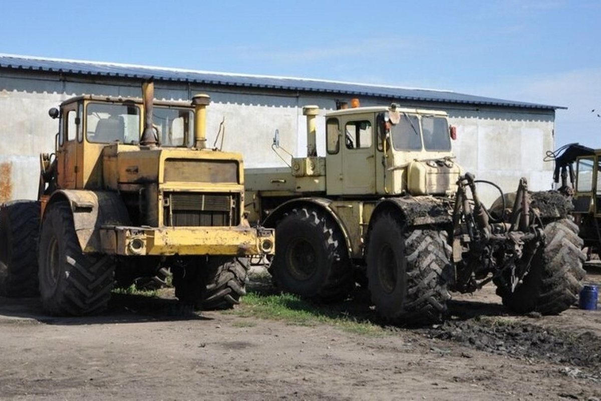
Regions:
<instances>
[{"instance_id":1,"label":"orange-yellow tractor's windshield pane left of the rusty exhaust pipe","mask_svg":"<svg viewBox=\"0 0 601 401\"><path fill-rule=\"evenodd\" d=\"M134 144L140 137L140 108L136 105L90 103L86 111L88 141Z\"/></svg>"}]
</instances>

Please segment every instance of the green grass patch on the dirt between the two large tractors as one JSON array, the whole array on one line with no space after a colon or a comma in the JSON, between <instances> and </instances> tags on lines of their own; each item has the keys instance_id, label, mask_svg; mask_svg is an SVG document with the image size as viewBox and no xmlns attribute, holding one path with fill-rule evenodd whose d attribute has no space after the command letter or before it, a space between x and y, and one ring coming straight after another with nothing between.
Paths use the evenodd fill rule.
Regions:
<instances>
[{"instance_id":1,"label":"green grass patch on the dirt between the two large tractors","mask_svg":"<svg viewBox=\"0 0 601 401\"><path fill-rule=\"evenodd\" d=\"M331 307L311 304L296 295L250 291L238 308L231 311L237 316L283 320L293 325L314 326L326 324L347 332L363 335L383 335L385 329L368 319L349 314L340 304Z\"/></svg>"}]
</instances>

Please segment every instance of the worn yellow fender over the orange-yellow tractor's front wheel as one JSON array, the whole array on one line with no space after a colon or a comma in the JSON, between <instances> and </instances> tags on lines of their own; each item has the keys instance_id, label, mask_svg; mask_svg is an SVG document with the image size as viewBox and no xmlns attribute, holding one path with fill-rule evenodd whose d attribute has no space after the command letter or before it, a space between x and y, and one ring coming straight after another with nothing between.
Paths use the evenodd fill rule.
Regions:
<instances>
[{"instance_id":1,"label":"worn yellow fender over the orange-yellow tractor's front wheel","mask_svg":"<svg viewBox=\"0 0 601 401\"><path fill-rule=\"evenodd\" d=\"M117 192L60 189L50 195L44 211L60 201L67 201L71 206L75 233L84 253L102 252L100 227L103 225L131 225L129 213Z\"/></svg>"}]
</instances>

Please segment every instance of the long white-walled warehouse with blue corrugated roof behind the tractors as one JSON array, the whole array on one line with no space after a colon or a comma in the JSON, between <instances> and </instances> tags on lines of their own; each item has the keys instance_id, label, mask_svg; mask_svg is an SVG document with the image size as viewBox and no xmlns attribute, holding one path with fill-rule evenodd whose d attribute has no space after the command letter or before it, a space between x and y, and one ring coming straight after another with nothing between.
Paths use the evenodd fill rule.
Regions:
<instances>
[{"instance_id":1,"label":"long white-walled warehouse with blue corrugated roof behind the tractors","mask_svg":"<svg viewBox=\"0 0 601 401\"><path fill-rule=\"evenodd\" d=\"M58 130L48 109L81 94L140 97L142 80L151 76L157 99L209 94L207 144L213 144L224 121L223 148L242 152L246 167L284 165L271 148L275 130L281 147L304 155L302 106L318 105L324 114L356 97L362 106L394 102L447 111L458 133L453 152L464 171L504 191L514 191L522 176L531 189L551 189L553 166L543 156L554 148L558 106L451 91L0 54L0 201L37 196L39 154L52 152ZM319 118L320 156L325 155L319 135L324 124ZM492 189L481 191L487 203L496 197Z\"/></svg>"}]
</instances>

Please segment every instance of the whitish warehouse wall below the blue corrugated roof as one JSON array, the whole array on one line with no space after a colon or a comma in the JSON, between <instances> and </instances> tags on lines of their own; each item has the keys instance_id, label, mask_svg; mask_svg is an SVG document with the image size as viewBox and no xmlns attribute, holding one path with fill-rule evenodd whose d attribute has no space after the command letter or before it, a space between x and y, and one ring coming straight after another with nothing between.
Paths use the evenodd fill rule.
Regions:
<instances>
[{"instance_id":1,"label":"whitish warehouse wall below the blue corrugated roof","mask_svg":"<svg viewBox=\"0 0 601 401\"><path fill-rule=\"evenodd\" d=\"M39 153L52 152L57 120L48 117L51 107L72 96L97 94L141 96L138 82L59 81L50 73L0 72L0 201L35 198L39 174ZM300 96L273 91L249 93L226 88L190 87L182 83L155 83L157 99L188 100L198 92L210 94L207 144L213 145L219 123L225 117L224 150L243 153L246 167L283 166L272 152L273 133L279 130L280 145L295 156L305 154L303 105L318 105L322 115L344 95ZM382 105L386 101L363 100L362 105ZM415 106L410 103L401 106ZM424 108L423 105L421 105ZM441 108L433 104L429 108ZM526 176L531 189L550 189L552 164L542 162L546 150L554 147L554 111L477 109L474 106L442 108L457 126L459 139L453 149L464 171L477 178L492 180L505 191L517 188L519 177ZM325 155L325 119L317 119L319 155ZM322 135L320 135L320 133ZM281 152L284 158L288 158ZM10 170L10 176L2 172ZM6 175L6 173L4 174ZM489 203L496 192L481 185L482 198Z\"/></svg>"}]
</instances>

